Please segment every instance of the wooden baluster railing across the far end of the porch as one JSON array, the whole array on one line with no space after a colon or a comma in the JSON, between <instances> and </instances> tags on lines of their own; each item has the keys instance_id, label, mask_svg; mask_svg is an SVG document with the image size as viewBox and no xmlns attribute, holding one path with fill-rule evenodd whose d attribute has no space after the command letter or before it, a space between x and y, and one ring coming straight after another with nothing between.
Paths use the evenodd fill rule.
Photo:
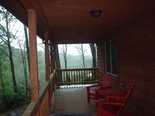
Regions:
<instances>
[{"instance_id":1,"label":"wooden baluster railing across the far end of the porch","mask_svg":"<svg viewBox=\"0 0 155 116\"><path fill-rule=\"evenodd\" d=\"M88 84L98 81L97 68L56 70L57 85Z\"/></svg>"}]
</instances>

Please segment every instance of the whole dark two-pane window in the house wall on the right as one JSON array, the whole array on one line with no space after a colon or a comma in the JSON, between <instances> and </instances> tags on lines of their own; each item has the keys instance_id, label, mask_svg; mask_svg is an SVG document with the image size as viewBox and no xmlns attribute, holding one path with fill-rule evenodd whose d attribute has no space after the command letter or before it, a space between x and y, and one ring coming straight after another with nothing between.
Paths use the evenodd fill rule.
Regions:
<instances>
[{"instance_id":1,"label":"whole dark two-pane window in the house wall on the right","mask_svg":"<svg viewBox=\"0 0 155 116\"><path fill-rule=\"evenodd\" d=\"M105 42L105 71L110 74L117 74L117 44L116 40Z\"/></svg>"}]
</instances>

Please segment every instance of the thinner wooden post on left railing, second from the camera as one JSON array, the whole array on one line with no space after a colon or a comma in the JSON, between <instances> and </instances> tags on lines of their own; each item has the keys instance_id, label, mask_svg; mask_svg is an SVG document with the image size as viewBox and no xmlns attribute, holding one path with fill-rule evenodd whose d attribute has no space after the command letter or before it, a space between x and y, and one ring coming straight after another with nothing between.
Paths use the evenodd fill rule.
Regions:
<instances>
[{"instance_id":1,"label":"thinner wooden post on left railing, second from the camera","mask_svg":"<svg viewBox=\"0 0 155 116\"><path fill-rule=\"evenodd\" d=\"M49 63L49 47L48 47L48 33L44 33L45 39L45 63L46 63L46 81L50 80L50 63Z\"/></svg>"}]
</instances>

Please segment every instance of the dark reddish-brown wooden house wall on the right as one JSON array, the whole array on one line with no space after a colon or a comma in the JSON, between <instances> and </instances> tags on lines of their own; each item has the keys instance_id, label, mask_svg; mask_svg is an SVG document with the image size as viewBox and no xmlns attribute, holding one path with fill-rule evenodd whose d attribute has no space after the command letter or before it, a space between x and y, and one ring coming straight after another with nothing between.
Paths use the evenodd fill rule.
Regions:
<instances>
[{"instance_id":1,"label":"dark reddish-brown wooden house wall on the right","mask_svg":"<svg viewBox=\"0 0 155 116\"><path fill-rule=\"evenodd\" d=\"M132 21L116 33L112 34L118 44L116 78L135 86L129 110L136 116L155 116L155 15ZM98 68L101 72L104 58L100 46Z\"/></svg>"}]
</instances>

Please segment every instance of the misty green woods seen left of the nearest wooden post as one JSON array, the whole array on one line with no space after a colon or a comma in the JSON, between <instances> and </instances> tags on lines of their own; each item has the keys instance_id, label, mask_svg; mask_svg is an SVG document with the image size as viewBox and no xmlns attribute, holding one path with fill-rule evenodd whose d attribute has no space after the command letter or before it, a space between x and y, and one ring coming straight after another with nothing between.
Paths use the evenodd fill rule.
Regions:
<instances>
[{"instance_id":1,"label":"misty green woods seen left of the nearest wooden post","mask_svg":"<svg viewBox=\"0 0 155 116\"><path fill-rule=\"evenodd\" d=\"M29 100L25 95L23 81L20 81L24 72L21 56L25 56L25 51L12 46L18 38L19 30L18 27L15 28L17 22L11 13L0 7L0 111Z\"/></svg>"}]
</instances>

